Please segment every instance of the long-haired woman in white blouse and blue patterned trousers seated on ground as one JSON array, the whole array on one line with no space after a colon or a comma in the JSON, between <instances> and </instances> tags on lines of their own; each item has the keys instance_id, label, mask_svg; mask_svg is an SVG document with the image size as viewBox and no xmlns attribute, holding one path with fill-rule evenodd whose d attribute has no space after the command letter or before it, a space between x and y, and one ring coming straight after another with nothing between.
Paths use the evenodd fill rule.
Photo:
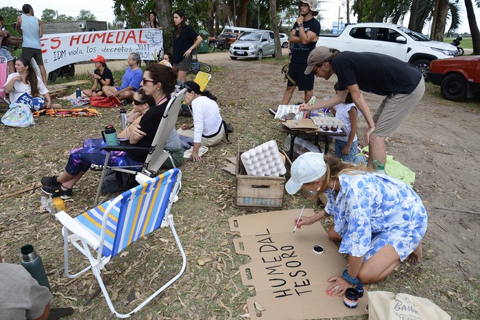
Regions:
<instances>
[{"instance_id":1,"label":"long-haired woman in white blouse and blue patterned trousers seated on ground","mask_svg":"<svg viewBox=\"0 0 480 320\"><path fill-rule=\"evenodd\" d=\"M60 104L51 104L48 89L42 78L38 77L30 62L20 58L15 62L16 72L8 75L5 82L5 93L10 96L12 103L22 101L32 110L61 108Z\"/></svg>"}]
</instances>

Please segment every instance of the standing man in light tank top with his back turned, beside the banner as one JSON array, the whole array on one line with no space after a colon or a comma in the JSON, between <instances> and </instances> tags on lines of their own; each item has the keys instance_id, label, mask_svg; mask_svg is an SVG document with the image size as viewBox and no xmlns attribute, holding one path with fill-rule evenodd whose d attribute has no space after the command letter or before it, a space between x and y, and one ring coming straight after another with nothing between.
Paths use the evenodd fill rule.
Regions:
<instances>
[{"instance_id":1,"label":"standing man in light tank top with his back turned, beside the banner","mask_svg":"<svg viewBox=\"0 0 480 320\"><path fill-rule=\"evenodd\" d=\"M43 83L47 86L47 71L43 66L42 47L40 38L43 37L42 21L34 16L34 8L32 5L25 3L22 7L24 14L16 18L16 31L23 36L22 44L22 58L30 61L35 59L40 73L42 75Z\"/></svg>"}]
</instances>

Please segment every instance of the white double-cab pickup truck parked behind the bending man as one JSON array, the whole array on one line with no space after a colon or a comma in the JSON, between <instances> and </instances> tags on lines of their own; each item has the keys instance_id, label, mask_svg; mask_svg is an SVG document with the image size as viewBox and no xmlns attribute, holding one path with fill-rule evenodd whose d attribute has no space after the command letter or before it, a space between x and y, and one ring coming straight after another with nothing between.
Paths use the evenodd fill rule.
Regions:
<instances>
[{"instance_id":1,"label":"white double-cab pickup truck parked behind the bending man","mask_svg":"<svg viewBox=\"0 0 480 320\"><path fill-rule=\"evenodd\" d=\"M431 41L423 34L389 23L347 25L341 34L320 34L317 47L339 51L377 52L410 62L425 75L432 60L457 56L457 48L445 42Z\"/></svg>"}]
</instances>

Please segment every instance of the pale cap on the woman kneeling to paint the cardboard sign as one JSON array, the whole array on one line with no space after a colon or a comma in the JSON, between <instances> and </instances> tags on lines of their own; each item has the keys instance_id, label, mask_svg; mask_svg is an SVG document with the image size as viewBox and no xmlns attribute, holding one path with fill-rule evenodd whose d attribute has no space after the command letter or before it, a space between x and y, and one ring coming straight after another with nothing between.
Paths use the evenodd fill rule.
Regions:
<instances>
[{"instance_id":1,"label":"pale cap on the woman kneeling to paint the cardboard sign","mask_svg":"<svg viewBox=\"0 0 480 320\"><path fill-rule=\"evenodd\" d=\"M293 195L302 188L302 184L319 180L325 173L326 164L323 153L303 153L291 164L291 178L285 184L285 190Z\"/></svg>"}]
</instances>

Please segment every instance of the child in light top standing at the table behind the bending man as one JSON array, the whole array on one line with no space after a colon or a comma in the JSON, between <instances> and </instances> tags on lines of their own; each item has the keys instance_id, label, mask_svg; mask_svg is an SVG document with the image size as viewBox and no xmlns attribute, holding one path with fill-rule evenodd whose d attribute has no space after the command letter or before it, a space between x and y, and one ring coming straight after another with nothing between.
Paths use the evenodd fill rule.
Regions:
<instances>
[{"instance_id":1,"label":"child in light top standing at the table behind the bending man","mask_svg":"<svg viewBox=\"0 0 480 320\"><path fill-rule=\"evenodd\" d=\"M333 86L335 93L338 91L338 82ZM357 109L355 103L353 103L352 96L348 93L345 103L337 104L334 108L331 108L331 112L335 115L335 118L344 122L344 131L346 136L333 136L335 139L335 156L340 158L344 162L350 162L352 164L366 164L363 156L357 156L359 152L357 147L357 123L361 116L360 110Z\"/></svg>"}]
</instances>

